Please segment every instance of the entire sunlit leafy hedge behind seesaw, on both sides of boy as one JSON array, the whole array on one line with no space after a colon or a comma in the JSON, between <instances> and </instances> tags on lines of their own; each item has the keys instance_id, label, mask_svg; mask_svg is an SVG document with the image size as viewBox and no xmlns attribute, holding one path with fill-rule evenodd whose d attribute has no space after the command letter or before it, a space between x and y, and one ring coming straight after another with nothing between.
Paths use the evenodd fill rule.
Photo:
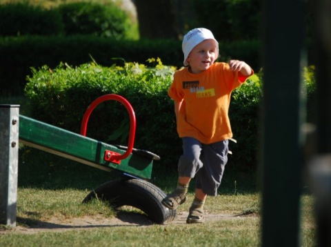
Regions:
<instances>
[{"instance_id":1,"label":"entire sunlit leafy hedge behind seesaw, on both sides of boy","mask_svg":"<svg viewBox=\"0 0 331 247\"><path fill-rule=\"evenodd\" d=\"M93 62L75 68L61 63L55 69L33 69L25 89L32 109L30 117L79 132L83 114L94 99L109 93L121 95L131 103L137 118L134 147L160 155L161 164L175 169L182 152L173 101L168 97L175 68L163 66L159 59L148 59L148 63L150 66L124 63L103 67ZM262 78L259 72L232 92L229 115L237 144L230 142L233 155L229 164L241 170L257 166ZM315 88L313 67L305 68L304 78L307 92L303 93L310 101ZM87 135L126 145L129 125L126 108L106 101L92 112Z\"/></svg>"}]
</instances>

